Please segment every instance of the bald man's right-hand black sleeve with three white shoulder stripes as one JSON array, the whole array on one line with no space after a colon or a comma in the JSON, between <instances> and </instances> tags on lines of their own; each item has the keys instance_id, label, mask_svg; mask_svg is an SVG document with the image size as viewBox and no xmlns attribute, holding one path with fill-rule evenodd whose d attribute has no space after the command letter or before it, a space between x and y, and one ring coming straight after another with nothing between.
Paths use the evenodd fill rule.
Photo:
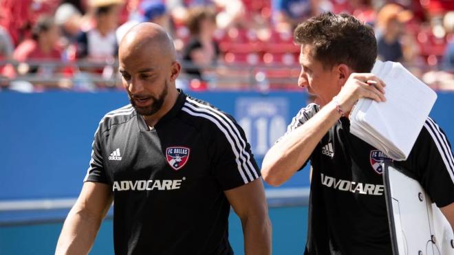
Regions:
<instances>
[{"instance_id":1,"label":"bald man's right-hand black sleeve with three white shoulder stripes","mask_svg":"<svg viewBox=\"0 0 454 255\"><path fill-rule=\"evenodd\" d=\"M213 174L222 190L258 179L261 176L259 167L241 126L225 113L217 116L215 125L209 148L213 157Z\"/></svg>"}]
</instances>

